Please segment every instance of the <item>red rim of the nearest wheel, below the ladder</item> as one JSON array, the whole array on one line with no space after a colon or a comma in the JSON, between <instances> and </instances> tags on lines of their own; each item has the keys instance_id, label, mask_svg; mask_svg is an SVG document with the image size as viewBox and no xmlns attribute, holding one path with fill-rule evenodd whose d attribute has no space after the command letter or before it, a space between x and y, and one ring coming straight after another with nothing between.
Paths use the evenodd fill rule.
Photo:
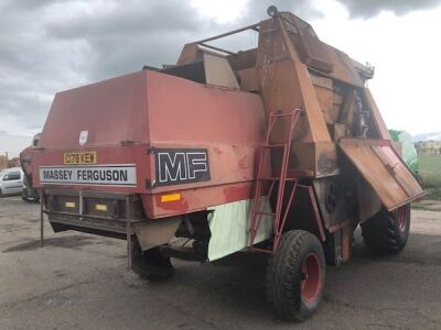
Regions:
<instances>
[{"instance_id":1,"label":"red rim of the nearest wheel, below the ladder","mask_svg":"<svg viewBox=\"0 0 441 330\"><path fill-rule=\"evenodd\" d=\"M302 264L302 298L306 302L315 301L319 297L322 267L316 254L309 254Z\"/></svg>"}]
</instances>

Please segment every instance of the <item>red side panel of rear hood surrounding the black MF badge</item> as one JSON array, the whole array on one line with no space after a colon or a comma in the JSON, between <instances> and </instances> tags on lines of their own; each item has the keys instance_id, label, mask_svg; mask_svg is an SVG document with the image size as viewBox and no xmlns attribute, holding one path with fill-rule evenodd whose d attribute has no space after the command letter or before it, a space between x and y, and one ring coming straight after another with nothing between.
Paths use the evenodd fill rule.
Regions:
<instances>
[{"instance_id":1,"label":"red side panel of rear hood surrounding the black MF badge","mask_svg":"<svg viewBox=\"0 0 441 330\"><path fill-rule=\"evenodd\" d=\"M154 72L148 73L147 87L153 169L142 196L148 216L170 217L250 198L257 151L266 134L261 97ZM158 185L155 150L161 148L206 150L209 179ZM181 195L172 201L161 199L169 193Z\"/></svg>"}]
</instances>

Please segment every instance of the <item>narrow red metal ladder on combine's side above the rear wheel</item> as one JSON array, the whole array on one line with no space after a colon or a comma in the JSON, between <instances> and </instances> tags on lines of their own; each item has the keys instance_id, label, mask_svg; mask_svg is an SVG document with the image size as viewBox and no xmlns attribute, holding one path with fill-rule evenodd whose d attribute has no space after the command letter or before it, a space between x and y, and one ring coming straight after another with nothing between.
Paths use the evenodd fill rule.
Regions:
<instances>
[{"instance_id":1,"label":"narrow red metal ladder on combine's side above the rear wheel","mask_svg":"<svg viewBox=\"0 0 441 330\"><path fill-rule=\"evenodd\" d=\"M280 237L282 234L283 227L287 221L288 212L289 212L289 209L292 204L294 193L295 193L295 189L298 186L298 179L295 177L287 177L287 173L288 173L288 165L289 165L289 154L291 151L292 135L293 135L295 125L298 123L300 113L301 113L301 110L295 109L295 110L292 110L289 112L271 111L271 113L269 116L267 140L266 140L266 144L261 145L261 150L260 150L259 167L258 167L258 172L257 172L256 188L255 188L255 195L254 195L255 199L254 199L254 204L252 204L252 208L251 208L251 227L250 227L249 246L252 250L262 251L262 252L275 252L277 246L279 245ZM271 132L272 132L276 123L282 119L290 120L290 127L289 127L287 141L283 143L271 144ZM280 175L272 176L272 174L271 174L271 176L266 177L266 176L263 176L263 172L265 172L265 164L266 164L267 155L269 154L271 156L270 151L273 148L282 148L283 150ZM269 158L269 161L271 161L271 157ZM284 193L287 190L286 186L287 186L287 183L289 183L289 182L293 183L292 189L291 189L288 202L283 202L284 201L284 198L283 198ZM271 195L275 191L275 187L277 186L276 185L277 183L278 183L278 187L277 187L276 212L268 212L266 209L267 209L267 206L269 205L269 200L271 198ZM261 198L260 196L263 193L263 188L267 187L268 184L269 184L268 194L265 196L265 198ZM259 224L261 222L261 218L265 216L272 217L272 228L273 228L272 250L263 250L263 249L252 246L255 244L255 240L256 240L256 235L257 235L257 232L259 229Z\"/></svg>"}]
</instances>

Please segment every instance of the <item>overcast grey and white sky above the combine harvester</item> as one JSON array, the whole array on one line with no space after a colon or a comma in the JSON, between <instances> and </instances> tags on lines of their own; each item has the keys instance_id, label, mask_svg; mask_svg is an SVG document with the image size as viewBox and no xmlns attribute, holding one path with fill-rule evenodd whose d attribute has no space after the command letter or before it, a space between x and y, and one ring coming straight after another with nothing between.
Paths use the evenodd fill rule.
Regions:
<instances>
[{"instance_id":1,"label":"overcast grey and white sky above the combine harvester","mask_svg":"<svg viewBox=\"0 0 441 330\"><path fill-rule=\"evenodd\" d=\"M369 87L389 128L441 131L440 2L0 0L0 153L41 130L56 91L173 64L184 43L267 19L272 3L375 66Z\"/></svg>"}]
</instances>

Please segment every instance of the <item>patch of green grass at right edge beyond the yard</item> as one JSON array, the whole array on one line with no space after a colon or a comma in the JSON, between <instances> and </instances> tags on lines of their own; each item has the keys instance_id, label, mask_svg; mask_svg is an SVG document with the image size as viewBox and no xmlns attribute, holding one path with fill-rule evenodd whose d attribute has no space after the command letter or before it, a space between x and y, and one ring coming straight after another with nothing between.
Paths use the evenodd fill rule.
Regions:
<instances>
[{"instance_id":1,"label":"patch of green grass at right edge beyond the yard","mask_svg":"<svg viewBox=\"0 0 441 330\"><path fill-rule=\"evenodd\" d=\"M433 190L429 193L433 197L441 199L441 155L419 155L419 163L424 187Z\"/></svg>"}]
</instances>

